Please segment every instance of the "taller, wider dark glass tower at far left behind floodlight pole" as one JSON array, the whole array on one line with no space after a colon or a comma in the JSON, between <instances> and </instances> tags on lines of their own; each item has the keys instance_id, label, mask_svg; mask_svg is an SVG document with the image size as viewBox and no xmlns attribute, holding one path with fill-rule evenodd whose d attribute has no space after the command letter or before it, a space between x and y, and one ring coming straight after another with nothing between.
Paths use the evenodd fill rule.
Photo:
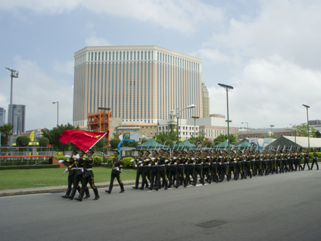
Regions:
<instances>
[{"instance_id":1,"label":"taller, wider dark glass tower at far left behind floodlight pole","mask_svg":"<svg viewBox=\"0 0 321 241\"><path fill-rule=\"evenodd\" d=\"M12 116L12 124L14 128L12 133L20 134L25 132L25 105L12 104L12 114L10 104L8 106L8 123L10 122L10 116Z\"/></svg>"}]
</instances>

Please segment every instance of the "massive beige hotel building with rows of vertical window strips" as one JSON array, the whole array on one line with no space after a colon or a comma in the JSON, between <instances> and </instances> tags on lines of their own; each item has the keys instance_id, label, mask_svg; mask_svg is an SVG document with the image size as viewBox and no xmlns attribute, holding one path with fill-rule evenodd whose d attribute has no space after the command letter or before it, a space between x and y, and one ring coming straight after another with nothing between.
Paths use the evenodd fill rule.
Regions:
<instances>
[{"instance_id":1,"label":"massive beige hotel building with rows of vertical window strips","mask_svg":"<svg viewBox=\"0 0 321 241\"><path fill-rule=\"evenodd\" d=\"M206 87L205 87L206 88ZM203 93L202 93L203 91ZM208 96L208 95L207 95ZM111 108L123 122L154 123L203 117L202 60L158 46L85 47L75 53L73 124L87 126L88 113Z\"/></svg>"}]
</instances>

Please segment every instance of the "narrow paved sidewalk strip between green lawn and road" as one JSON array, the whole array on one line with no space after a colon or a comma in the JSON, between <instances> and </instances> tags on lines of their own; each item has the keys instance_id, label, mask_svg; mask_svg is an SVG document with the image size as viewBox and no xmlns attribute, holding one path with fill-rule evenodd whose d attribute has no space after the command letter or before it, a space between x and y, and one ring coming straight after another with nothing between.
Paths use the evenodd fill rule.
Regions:
<instances>
[{"instance_id":1,"label":"narrow paved sidewalk strip between green lawn and road","mask_svg":"<svg viewBox=\"0 0 321 241\"><path fill-rule=\"evenodd\" d=\"M141 183L141 180L139 180ZM134 185L135 180L126 180L123 181L123 185ZM95 183L97 188L109 187L109 181L104 183ZM114 182L114 187L119 187L119 184ZM89 190L91 187L89 186ZM59 186L50 186L50 187L27 187L27 188L16 188L16 189L7 189L0 190L0 196L14 196L14 195L25 195L25 194L43 194L43 193L51 193L51 192L66 192L67 185L59 185Z\"/></svg>"}]
</instances>

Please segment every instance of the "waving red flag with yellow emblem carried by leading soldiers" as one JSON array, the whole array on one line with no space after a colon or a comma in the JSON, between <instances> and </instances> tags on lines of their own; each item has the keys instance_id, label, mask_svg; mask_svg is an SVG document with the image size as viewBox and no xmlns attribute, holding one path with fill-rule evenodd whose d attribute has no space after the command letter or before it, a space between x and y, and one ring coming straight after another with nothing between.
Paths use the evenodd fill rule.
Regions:
<instances>
[{"instance_id":1,"label":"waving red flag with yellow emblem carried by leading soldiers","mask_svg":"<svg viewBox=\"0 0 321 241\"><path fill-rule=\"evenodd\" d=\"M95 144L102 139L105 135L108 137L109 130L106 133L93 133L91 131L85 130L64 130L60 135L59 140L62 143L71 142L87 152L90 148L95 146Z\"/></svg>"}]
</instances>

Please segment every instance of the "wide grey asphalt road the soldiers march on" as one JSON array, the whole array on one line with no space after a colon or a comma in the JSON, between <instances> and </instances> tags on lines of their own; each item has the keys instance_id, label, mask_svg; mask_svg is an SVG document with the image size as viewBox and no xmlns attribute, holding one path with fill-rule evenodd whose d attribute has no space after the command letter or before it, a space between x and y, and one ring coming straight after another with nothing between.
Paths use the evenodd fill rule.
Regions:
<instances>
[{"instance_id":1,"label":"wide grey asphalt road the soldiers march on","mask_svg":"<svg viewBox=\"0 0 321 241\"><path fill-rule=\"evenodd\" d=\"M320 184L321 170L305 170L158 192L100 189L97 201L92 192L82 202L2 197L0 239L320 240Z\"/></svg>"}]
</instances>

